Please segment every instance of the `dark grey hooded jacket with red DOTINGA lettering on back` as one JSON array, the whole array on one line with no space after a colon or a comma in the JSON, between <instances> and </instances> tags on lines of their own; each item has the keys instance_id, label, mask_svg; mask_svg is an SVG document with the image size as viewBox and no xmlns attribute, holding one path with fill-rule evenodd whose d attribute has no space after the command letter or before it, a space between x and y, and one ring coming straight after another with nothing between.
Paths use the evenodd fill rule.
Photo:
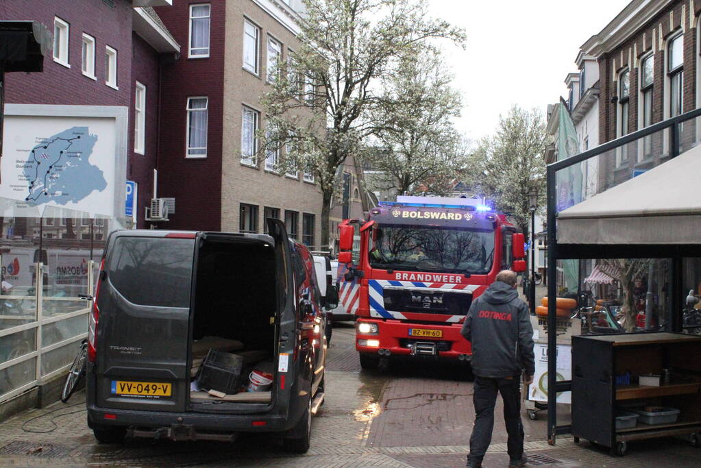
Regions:
<instances>
[{"instance_id":1,"label":"dark grey hooded jacket with red DOTINGA lettering on back","mask_svg":"<svg viewBox=\"0 0 701 468\"><path fill-rule=\"evenodd\" d=\"M462 335L472 343L475 376L504 378L536 371L528 305L505 282L491 284L472 301Z\"/></svg>"}]
</instances>

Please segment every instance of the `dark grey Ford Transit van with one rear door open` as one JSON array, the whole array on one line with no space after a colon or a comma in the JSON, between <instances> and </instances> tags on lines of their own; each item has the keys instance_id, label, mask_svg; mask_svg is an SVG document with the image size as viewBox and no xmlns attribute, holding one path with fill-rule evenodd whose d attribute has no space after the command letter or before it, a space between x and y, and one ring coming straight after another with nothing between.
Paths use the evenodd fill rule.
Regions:
<instances>
[{"instance_id":1,"label":"dark grey Ford Transit van with one rear door open","mask_svg":"<svg viewBox=\"0 0 701 468\"><path fill-rule=\"evenodd\" d=\"M271 235L110 235L88 333L88 425L98 441L277 432L287 450L306 452L324 399L324 308L336 306L338 292L331 287L323 300L309 250L281 221L266 222ZM217 346L244 369L267 361L270 390L238 392L247 373L225 397L198 389L202 352Z\"/></svg>"}]
</instances>

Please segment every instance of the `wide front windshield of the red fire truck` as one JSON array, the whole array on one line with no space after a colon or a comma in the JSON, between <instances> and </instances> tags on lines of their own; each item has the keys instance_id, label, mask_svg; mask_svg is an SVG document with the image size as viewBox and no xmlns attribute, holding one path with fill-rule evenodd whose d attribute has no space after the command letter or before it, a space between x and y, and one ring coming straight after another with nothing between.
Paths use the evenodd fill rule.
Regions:
<instances>
[{"instance_id":1,"label":"wide front windshield of the red fire truck","mask_svg":"<svg viewBox=\"0 0 701 468\"><path fill-rule=\"evenodd\" d=\"M494 230L375 226L372 268L484 275L494 261Z\"/></svg>"}]
</instances>

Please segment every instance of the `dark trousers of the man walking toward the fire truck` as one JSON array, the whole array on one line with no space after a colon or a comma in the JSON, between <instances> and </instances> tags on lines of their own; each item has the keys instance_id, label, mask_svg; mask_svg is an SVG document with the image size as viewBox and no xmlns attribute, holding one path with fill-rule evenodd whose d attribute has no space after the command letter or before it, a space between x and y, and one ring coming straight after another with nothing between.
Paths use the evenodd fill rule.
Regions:
<instances>
[{"instance_id":1,"label":"dark trousers of the man walking toward the fire truck","mask_svg":"<svg viewBox=\"0 0 701 468\"><path fill-rule=\"evenodd\" d=\"M504 420L509 434L507 450L511 460L521 460L524 454L524 427L521 422L520 376L512 378L475 377L475 427L470 437L469 460L482 462L482 457L491 442L494 428L494 404L497 392L504 401Z\"/></svg>"}]
</instances>

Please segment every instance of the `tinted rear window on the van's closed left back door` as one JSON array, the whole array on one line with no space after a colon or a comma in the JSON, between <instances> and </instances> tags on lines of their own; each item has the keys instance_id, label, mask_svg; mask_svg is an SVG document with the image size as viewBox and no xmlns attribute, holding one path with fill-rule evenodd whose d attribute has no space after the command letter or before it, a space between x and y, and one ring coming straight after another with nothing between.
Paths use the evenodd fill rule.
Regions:
<instances>
[{"instance_id":1,"label":"tinted rear window on the van's closed left back door","mask_svg":"<svg viewBox=\"0 0 701 468\"><path fill-rule=\"evenodd\" d=\"M194 248L194 239L117 238L107 278L131 303L187 308Z\"/></svg>"}]
</instances>

